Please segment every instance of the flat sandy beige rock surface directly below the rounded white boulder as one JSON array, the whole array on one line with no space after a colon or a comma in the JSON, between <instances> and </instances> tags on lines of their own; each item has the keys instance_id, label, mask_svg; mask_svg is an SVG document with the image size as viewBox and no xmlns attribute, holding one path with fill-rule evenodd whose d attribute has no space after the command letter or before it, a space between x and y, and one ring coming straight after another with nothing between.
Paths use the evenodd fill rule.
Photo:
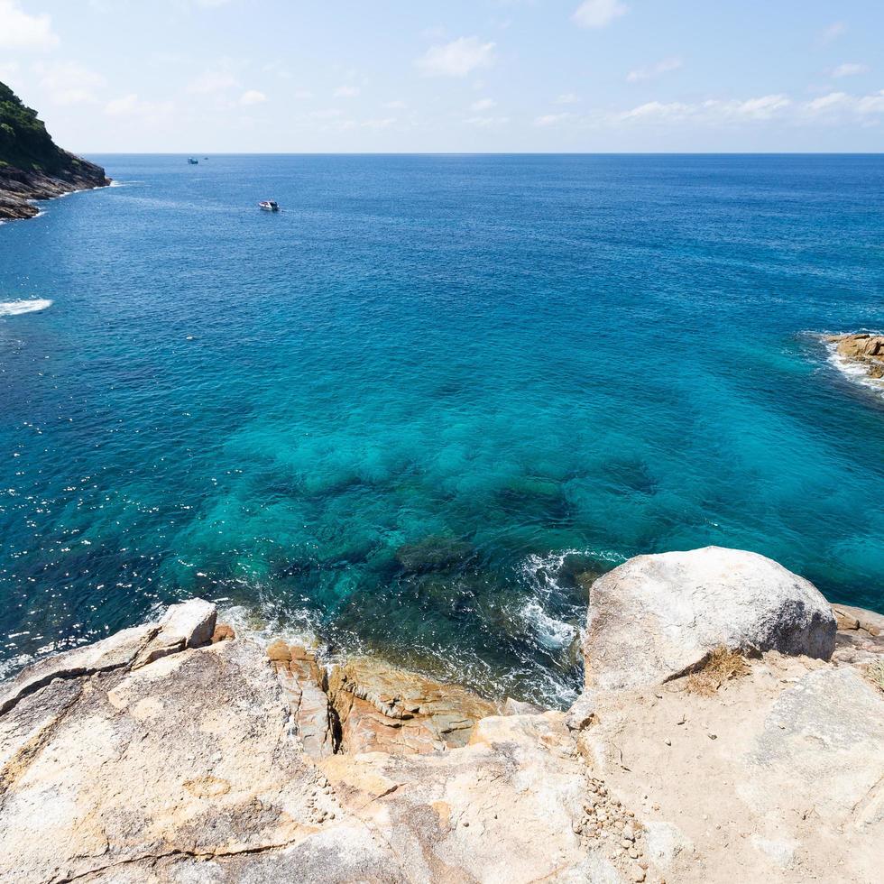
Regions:
<instances>
[{"instance_id":1,"label":"flat sandy beige rock surface directly below the rounded white boulder","mask_svg":"<svg viewBox=\"0 0 884 884\"><path fill-rule=\"evenodd\" d=\"M649 880L879 879L884 695L812 658L748 665L712 696L687 677L596 694L578 739L636 812Z\"/></svg>"}]
</instances>

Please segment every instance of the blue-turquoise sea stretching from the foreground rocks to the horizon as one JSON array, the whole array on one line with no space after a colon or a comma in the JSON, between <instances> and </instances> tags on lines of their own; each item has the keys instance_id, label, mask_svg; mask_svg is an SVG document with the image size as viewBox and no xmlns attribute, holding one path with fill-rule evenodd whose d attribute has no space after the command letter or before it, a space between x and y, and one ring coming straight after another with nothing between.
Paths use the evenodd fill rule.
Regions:
<instances>
[{"instance_id":1,"label":"blue-turquoise sea stretching from the foreground rocks to the horizon","mask_svg":"<svg viewBox=\"0 0 884 884\"><path fill-rule=\"evenodd\" d=\"M578 575L711 543L884 608L810 334L884 326L884 157L96 159L0 226L7 669L202 594L563 702Z\"/></svg>"}]
</instances>

